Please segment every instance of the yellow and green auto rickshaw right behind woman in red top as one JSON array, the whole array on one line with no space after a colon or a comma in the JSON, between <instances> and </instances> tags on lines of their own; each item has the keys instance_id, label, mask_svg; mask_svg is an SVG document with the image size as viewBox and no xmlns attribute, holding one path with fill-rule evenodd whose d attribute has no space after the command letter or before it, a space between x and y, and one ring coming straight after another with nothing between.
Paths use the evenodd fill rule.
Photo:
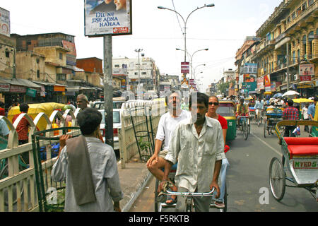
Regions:
<instances>
[{"instance_id":1,"label":"yellow and green auto rickshaw right behind woman in red top","mask_svg":"<svg viewBox=\"0 0 318 226\"><path fill-rule=\"evenodd\" d=\"M225 117L228 121L228 131L226 133L226 141L232 141L236 137L236 116L235 116L235 102L231 100L220 100L217 114Z\"/></svg>"}]
</instances>

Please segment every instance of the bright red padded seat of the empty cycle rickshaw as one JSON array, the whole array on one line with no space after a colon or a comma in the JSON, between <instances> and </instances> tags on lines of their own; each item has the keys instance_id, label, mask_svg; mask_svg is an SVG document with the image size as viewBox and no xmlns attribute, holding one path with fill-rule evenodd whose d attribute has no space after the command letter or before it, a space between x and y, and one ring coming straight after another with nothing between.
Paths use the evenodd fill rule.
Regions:
<instances>
[{"instance_id":1,"label":"bright red padded seat of the empty cycle rickshaw","mask_svg":"<svg viewBox=\"0 0 318 226\"><path fill-rule=\"evenodd\" d=\"M284 137L290 158L294 155L318 155L318 137Z\"/></svg>"}]
</instances>

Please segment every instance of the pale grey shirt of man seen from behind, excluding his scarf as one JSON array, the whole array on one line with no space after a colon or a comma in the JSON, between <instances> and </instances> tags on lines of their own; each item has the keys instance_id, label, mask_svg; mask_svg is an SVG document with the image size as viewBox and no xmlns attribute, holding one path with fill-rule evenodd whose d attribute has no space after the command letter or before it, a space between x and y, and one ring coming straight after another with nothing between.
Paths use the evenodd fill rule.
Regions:
<instances>
[{"instance_id":1,"label":"pale grey shirt of man seen from behind, excluding his scarf","mask_svg":"<svg viewBox=\"0 0 318 226\"><path fill-rule=\"evenodd\" d=\"M124 194L119 183L119 174L114 150L100 139L86 137L90 166L92 168L93 184L96 201L77 206L71 172L67 164L68 155L65 146L57 162L52 167L52 179L62 182L66 179L65 207L66 212L113 212L112 201L119 201Z\"/></svg>"}]
</instances>

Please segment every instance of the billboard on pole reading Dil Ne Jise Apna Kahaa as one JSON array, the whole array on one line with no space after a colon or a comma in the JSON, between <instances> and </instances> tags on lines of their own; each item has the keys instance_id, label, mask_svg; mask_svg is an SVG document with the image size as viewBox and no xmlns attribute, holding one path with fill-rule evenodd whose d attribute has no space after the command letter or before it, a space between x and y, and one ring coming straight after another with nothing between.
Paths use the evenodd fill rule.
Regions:
<instances>
[{"instance_id":1,"label":"billboard on pole reading Dil Ne Jise Apna Kahaa","mask_svg":"<svg viewBox=\"0 0 318 226\"><path fill-rule=\"evenodd\" d=\"M85 36L131 35L131 0L84 0Z\"/></svg>"}]
</instances>

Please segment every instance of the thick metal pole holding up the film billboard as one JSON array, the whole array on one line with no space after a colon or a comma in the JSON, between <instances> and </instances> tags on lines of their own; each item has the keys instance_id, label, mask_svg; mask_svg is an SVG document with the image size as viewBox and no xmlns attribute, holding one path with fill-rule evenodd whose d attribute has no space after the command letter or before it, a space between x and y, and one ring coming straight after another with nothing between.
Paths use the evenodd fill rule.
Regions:
<instances>
[{"instance_id":1,"label":"thick metal pole holding up the film billboard","mask_svg":"<svg viewBox=\"0 0 318 226\"><path fill-rule=\"evenodd\" d=\"M112 35L104 36L105 143L114 148L112 120Z\"/></svg>"}]
</instances>

